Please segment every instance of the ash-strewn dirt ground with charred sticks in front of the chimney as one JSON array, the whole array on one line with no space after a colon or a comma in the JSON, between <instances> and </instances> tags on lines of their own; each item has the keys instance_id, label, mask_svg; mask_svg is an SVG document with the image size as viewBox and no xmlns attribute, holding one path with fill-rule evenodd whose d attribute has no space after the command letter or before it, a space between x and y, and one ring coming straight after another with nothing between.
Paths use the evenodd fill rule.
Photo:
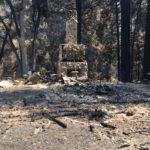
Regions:
<instances>
[{"instance_id":1,"label":"ash-strewn dirt ground with charred sticks in front of the chimney","mask_svg":"<svg viewBox=\"0 0 150 150\"><path fill-rule=\"evenodd\" d=\"M1 86L0 150L149 150L150 85L100 85Z\"/></svg>"}]
</instances>

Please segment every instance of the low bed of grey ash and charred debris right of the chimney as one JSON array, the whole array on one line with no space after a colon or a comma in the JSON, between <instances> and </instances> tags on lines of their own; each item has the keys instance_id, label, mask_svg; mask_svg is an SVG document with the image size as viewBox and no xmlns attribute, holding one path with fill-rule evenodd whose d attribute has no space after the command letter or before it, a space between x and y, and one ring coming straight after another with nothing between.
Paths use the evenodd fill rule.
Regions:
<instances>
[{"instance_id":1,"label":"low bed of grey ash and charred debris right of the chimney","mask_svg":"<svg viewBox=\"0 0 150 150\"><path fill-rule=\"evenodd\" d=\"M123 84L102 83L99 85L65 87L69 102L74 104L97 103L145 103L150 96Z\"/></svg>"}]
</instances>

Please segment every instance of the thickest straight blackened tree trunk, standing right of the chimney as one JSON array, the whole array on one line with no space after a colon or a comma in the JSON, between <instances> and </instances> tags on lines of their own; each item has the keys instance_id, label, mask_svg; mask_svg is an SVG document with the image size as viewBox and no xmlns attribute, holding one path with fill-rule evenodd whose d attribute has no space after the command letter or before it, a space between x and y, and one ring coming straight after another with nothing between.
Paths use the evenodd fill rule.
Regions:
<instances>
[{"instance_id":1,"label":"thickest straight blackened tree trunk, standing right of the chimney","mask_svg":"<svg viewBox=\"0 0 150 150\"><path fill-rule=\"evenodd\" d=\"M121 81L131 81L130 66L130 0L121 0Z\"/></svg>"}]
</instances>

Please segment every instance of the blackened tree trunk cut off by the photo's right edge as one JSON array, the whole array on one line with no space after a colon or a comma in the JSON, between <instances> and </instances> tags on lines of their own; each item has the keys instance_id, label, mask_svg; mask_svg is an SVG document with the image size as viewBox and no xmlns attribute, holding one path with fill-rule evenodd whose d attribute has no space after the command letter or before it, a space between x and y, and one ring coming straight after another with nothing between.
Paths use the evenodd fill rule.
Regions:
<instances>
[{"instance_id":1,"label":"blackened tree trunk cut off by the photo's right edge","mask_svg":"<svg viewBox=\"0 0 150 150\"><path fill-rule=\"evenodd\" d=\"M143 79L150 79L150 1L147 0L147 14L145 25L145 45L144 45L144 60L143 60Z\"/></svg>"}]
</instances>

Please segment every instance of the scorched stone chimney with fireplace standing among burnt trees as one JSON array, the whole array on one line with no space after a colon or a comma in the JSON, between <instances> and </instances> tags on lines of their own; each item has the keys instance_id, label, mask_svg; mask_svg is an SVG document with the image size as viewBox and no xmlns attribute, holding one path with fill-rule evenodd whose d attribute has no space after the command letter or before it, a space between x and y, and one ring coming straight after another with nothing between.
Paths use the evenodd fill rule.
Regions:
<instances>
[{"instance_id":1,"label":"scorched stone chimney with fireplace standing among burnt trees","mask_svg":"<svg viewBox=\"0 0 150 150\"><path fill-rule=\"evenodd\" d=\"M58 74L86 80L88 64L86 61L86 46L78 43L78 14L66 21L65 43L59 46Z\"/></svg>"}]
</instances>

